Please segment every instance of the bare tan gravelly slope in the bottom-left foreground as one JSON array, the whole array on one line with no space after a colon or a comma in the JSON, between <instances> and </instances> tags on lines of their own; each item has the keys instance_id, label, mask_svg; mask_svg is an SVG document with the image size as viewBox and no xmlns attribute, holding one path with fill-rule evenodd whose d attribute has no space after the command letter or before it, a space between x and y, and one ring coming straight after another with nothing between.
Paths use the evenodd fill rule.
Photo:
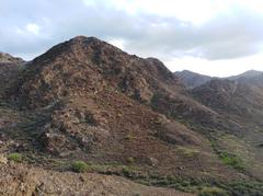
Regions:
<instances>
[{"instance_id":1,"label":"bare tan gravelly slope in the bottom-left foreground","mask_svg":"<svg viewBox=\"0 0 263 196\"><path fill-rule=\"evenodd\" d=\"M76 174L26 168L0 166L0 195L107 195L107 196L191 196L169 188L149 187L119 176Z\"/></svg>"}]
</instances>

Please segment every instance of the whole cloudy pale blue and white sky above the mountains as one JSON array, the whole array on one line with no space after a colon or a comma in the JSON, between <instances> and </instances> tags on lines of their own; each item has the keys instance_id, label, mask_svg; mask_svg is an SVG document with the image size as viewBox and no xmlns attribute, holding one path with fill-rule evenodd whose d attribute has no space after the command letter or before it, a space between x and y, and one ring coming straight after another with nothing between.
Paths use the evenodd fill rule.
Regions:
<instances>
[{"instance_id":1,"label":"whole cloudy pale blue and white sky above the mountains","mask_svg":"<svg viewBox=\"0 0 263 196\"><path fill-rule=\"evenodd\" d=\"M31 60L77 35L171 71L263 71L263 0L0 0L0 51Z\"/></svg>"}]
</instances>

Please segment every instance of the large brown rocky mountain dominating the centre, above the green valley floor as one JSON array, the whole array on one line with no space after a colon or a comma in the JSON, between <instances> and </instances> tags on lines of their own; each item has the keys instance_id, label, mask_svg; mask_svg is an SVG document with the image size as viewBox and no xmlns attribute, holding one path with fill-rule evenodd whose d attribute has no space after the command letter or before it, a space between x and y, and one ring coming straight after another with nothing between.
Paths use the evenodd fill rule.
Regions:
<instances>
[{"instance_id":1,"label":"large brown rocky mountain dominating the centre, above the green valley floor","mask_svg":"<svg viewBox=\"0 0 263 196\"><path fill-rule=\"evenodd\" d=\"M151 109L157 93L176 92L185 107L193 104L193 111L208 116L209 109L183 97L181 89L159 60L130 56L94 37L80 36L26 65L5 97L22 109L49 108L35 132L35 145L48 153L75 153L95 162L133 159L138 165L153 164L156 171L172 174L179 172L175 162L184 160L171 146L201 148L201 155L211 150L199 134ZM160 155L167 157L165 162ZM191 173L193 164L184 163L180 172Z\"/></svg>"}]
</instances>

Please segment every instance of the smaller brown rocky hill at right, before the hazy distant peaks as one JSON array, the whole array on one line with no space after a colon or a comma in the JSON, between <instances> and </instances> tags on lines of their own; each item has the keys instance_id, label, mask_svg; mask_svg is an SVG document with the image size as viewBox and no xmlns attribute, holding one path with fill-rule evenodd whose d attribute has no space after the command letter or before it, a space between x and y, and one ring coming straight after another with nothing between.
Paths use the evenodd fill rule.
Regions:
<instances>
[{"instance_id":1,"label":"smaller brown rocky hill at right, before the hazy distant peaks","mask_svg":"<svg viewBox=\"0 0 263 196\"><path fill-rule=\"evenodd\" d=\"M225 115L237 115L249 119L248 122L256 120L261 125L262 90L262 87L249 82L211 80L195 88L192 92L214 111L224 112Z\"/></svg>"}]
</instances>

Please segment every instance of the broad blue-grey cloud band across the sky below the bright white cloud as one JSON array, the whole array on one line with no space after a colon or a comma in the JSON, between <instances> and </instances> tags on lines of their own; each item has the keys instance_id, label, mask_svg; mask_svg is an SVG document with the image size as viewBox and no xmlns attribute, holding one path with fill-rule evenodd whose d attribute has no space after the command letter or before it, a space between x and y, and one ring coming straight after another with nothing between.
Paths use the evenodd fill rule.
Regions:
<instances>
[{"instance_id":1,"label":"broad blue-grey cloud band across the sky below the bright white cloud","mask_svg":"<svg viewBox=\"0 0 263 196\"><path fill-rule=\"evenodd\" d=\"M98 2L84 7L70 0L0 0L0 50L35 56L80 34L106 41L122 38L125 50L163 60L180 56L238 58L259 53L263 45L263 16L248 10L197 27L174 18L129 15ZM39 25L39 35L18 33L28 23Z\"/></svg>"}]
</instances>

